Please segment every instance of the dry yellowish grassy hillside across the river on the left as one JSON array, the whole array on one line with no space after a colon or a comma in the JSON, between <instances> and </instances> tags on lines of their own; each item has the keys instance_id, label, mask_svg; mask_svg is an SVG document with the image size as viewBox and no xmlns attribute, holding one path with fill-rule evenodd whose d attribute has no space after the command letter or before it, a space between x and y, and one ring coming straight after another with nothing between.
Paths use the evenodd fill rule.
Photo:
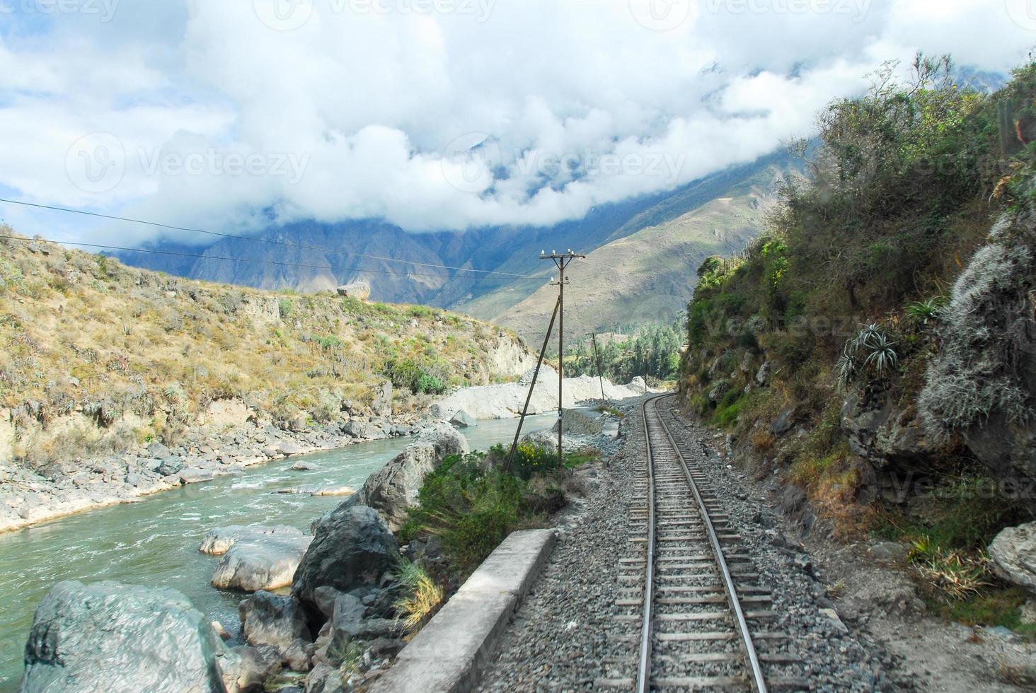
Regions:
<instances>
[{"instance_id":1,"label":"dry yellowish grassy hillside across the river on the left","mask_svg":"<svg viewBox=\"0 0 1036 693\"><path fill-rule=\"evenodd\" d=\"M8 228L3 235L12 235ZM281 426L507 377L516 340L424 307L207 284L34 240L0 241L0 407L30 461L173 443L213 402ZM3 413L0 411L0 413Z\"/></svg>"}]
</instances>

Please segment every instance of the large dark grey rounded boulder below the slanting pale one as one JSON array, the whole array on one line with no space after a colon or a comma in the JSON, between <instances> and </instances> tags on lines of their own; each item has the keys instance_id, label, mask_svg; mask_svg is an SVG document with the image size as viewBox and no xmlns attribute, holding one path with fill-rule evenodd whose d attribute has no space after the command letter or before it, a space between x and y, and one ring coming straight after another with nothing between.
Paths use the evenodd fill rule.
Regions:
<instances>
[{"instance_id":1,"label":"large dark grey rounded boulder below the slanting pale one","mask_svg":"<svg viewBox=\"0 0 1036 693\"><path fill-rule=\"evenodd\" d=\"M313 543L295 571L291 594L321 618L318 587L347 593L377 585L399 562L399 545L377 512L345 501L314 523Z\"/></svg>"}]
</instances>

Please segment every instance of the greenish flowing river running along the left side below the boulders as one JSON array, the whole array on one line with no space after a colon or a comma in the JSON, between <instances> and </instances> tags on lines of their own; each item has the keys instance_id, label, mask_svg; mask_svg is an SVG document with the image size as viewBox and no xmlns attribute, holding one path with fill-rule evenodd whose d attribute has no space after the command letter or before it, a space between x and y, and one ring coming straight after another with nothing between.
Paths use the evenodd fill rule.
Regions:
<instances>
[{"instance_id":1,"label":"greenish flowing river running along the left side below the boulders","mask_svg":"<svg viewBox=\"0 0 1036 693\"><path fill-rule=\"evenodd\" d=\"M524 430L553 426L556 414L530 416ZM487 450L514 436L517 420L487 421L466 429L472 450ZM141 502L73 515L0 535L0 691L15 691L36 605L62 580L118 580L178 589L228 630L238 627L240 593L209 586L219 558L198 552L211 527L228 524L310 523L343 498L278 495L296 486L359 488L367 478L411 440L366 442L246 469L206 484L150 496ZM290 471L298 461L314 471Z\"/></svg>"}]
</instances>

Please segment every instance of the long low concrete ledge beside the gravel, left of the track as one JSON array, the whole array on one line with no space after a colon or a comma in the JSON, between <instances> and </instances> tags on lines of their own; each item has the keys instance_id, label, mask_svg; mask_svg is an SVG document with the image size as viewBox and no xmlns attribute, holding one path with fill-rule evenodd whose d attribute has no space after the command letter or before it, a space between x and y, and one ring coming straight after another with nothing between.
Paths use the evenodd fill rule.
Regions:
<instances>
[{"instance_id":1,"label":"long low concrete ledge beside the gravel, left of the track","mask_svg":"<svg viewBox=\"0 0 1036 693\"><path fill-rule=\"evenodd\" d=\"M466 693L557 541L552 529L508 537L457 590L371 693Z\"/></svg>"}]
</instances>

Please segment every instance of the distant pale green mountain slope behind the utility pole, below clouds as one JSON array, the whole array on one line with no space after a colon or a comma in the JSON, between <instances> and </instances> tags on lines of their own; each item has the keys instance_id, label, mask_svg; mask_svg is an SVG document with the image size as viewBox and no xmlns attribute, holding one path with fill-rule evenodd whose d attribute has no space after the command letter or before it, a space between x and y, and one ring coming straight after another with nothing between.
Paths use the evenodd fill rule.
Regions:
<instances>
[{"instance_id":1,"label":"distant pale green mountain slope behind the utility pole, below clouds","mask_svg":"<svg viewBox=\"0 0 1036 693\"><path fill-rule=\"evenodd\" d=\"M741 251L758 235L786 173L786 158L754 169L701 206L612 240L573 263L566 331L582 337L592 329L622 331L644 322L674 320L694 290L694 268L711 255ZM556 298L557 288L541 283L531 296L493 320L538 341Z\"/></svg>"}]
</instances>

